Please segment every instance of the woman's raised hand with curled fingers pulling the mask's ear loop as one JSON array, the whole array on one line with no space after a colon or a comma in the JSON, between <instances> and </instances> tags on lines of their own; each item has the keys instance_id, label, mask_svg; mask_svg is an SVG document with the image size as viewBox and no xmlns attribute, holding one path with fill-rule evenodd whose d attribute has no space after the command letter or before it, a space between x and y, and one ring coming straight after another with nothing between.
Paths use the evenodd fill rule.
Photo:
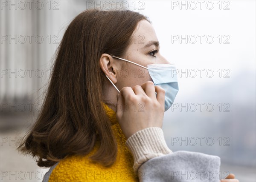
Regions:
<instances>
[{"instance_id":1,"label":"woman's raised hand with curled fingers pulling the mask's ear loop","mask_svg":"<svg viewBox=\"0 0 256 182\"><path fill-rule=\"evenodd\" d=\"M120 93L116 95L116 119L127 139L148 127L162 128L165 97L163 88L148 81L141 86L124 87Z\"/></svg>"}]
</instances>

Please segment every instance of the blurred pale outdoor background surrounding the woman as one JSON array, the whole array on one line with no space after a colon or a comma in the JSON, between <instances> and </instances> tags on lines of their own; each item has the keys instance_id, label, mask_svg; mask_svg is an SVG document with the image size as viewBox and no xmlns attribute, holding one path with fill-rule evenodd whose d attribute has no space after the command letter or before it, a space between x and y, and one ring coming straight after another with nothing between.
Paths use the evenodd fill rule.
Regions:
<instances>
[{"instance_id":1,"label":"blurred pale outdoor background surrounding the woman","mask_svg":"<svg viewBox=\"0 0 256 182\"><path fill-rule=\"evenodd\" d=\"M220 156L223 177L256 181L256 1L0 4L1 181L42 181L48 168L16 148L40 111L55 50L81 11L115 6L148 16L161 54L177 66L180 91L163 124L169 148Z\"/></svg>"}]
</instances>

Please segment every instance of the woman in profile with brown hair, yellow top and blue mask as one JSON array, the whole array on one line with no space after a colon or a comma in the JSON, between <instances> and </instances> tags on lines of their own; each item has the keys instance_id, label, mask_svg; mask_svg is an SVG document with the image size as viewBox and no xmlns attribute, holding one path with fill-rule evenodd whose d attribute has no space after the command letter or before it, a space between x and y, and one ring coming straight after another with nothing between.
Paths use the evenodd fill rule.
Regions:
<instances>
[{"instance_id":1,"label":"woman in profile with brown hair, yellow top and blue mask","mask_svg":"<svg viewBox=\"0 0 256 182\"><path fill-rule=\"evenodd\" d=\"M219 179L218 156L166 145L163 114L177 93L172 69L147 17L82 12L64 34L43 108L18 149L51 167L49 182L192 181L180 175L202 170L195 180Z\"/></svg>"}]
</instances>

